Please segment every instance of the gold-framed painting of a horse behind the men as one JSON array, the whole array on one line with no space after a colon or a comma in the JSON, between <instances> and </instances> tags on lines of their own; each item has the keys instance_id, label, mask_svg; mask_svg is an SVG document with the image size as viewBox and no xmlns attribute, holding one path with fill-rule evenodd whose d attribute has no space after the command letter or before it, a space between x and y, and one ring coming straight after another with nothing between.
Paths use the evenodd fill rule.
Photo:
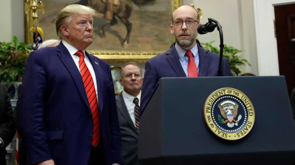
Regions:
<instances>
[{"instance_id":1,"label":"gold-framed painting of a horse behind the men","mask_svg":"<svg viewBox=\"0 0 295 165\"><path fill-rule=\"evenodd\" d=\"M36 2L24 0L24 3L28 1ZM45 12L39 11L37 20L25 14L26 43L33 42L29 28L36 23L43 29L43 41L57 39L55 16L65 5L78 3L89 5L101 13L101 18L94 18L94 41L87 51L106 62L143 63L170 48L174 42L169 30L171 15L182 5L182 0L113 0L112 20L103 17L106 1L42 0Z\"/></svg>"}]
</instances>

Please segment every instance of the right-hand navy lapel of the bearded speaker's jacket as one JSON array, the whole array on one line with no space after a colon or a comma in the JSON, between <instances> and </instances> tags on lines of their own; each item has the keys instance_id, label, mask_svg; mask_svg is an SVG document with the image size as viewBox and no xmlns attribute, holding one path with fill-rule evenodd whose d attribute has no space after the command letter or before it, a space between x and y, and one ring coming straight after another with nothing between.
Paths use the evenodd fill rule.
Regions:
<instances>
[{"instance_id":1,"label":"right-hand navy lapel of the bearded speaker's jacket","mask_svg":"<svg viewBox=\"0 0 295 165\"><path fill-rule=\"evenodd\" d=\"M210 61L207 54L208 50L202 49L199 44L197 46L199 51L199 77L206 77Z\"/></svg>"}]
</instances>

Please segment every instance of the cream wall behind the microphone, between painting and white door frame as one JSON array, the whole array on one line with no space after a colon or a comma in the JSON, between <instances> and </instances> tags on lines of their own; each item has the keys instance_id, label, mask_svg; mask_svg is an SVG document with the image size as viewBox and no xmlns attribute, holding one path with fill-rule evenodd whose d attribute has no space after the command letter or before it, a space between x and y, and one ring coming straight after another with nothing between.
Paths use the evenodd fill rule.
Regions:
<instances>
[{"instance_id":1,"label":"cream wall behind the microphone, between painting and white door frame","mask_svg":"<svg viewBox=\"0 0 295 165\"><path fill-rule=\"evenodd\" d=\"M221 24L224 44L245 50L241 55L250 62L251 67L242 67L242 73L251 72L258 75L253 1L183 0L183 5L191 3L202 9L202 24L208 22L208 17L214 18ZM219 47L220 39L217 29L211 33L199 35L200 42L213 40L215 40L213 45Z\"/></svg>"}]
</instances>

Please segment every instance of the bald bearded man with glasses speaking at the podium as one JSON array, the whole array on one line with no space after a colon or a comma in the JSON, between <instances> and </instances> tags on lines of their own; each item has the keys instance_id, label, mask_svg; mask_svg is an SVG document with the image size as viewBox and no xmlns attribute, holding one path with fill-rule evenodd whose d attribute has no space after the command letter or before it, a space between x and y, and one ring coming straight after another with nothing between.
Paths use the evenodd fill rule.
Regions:
<instances>
[{"instance_id":1,"label":"bald bearded man with glasses speaking at the podium","mask_svg":"<svg viewBox=\"0 0 295 165\"><path fill-rule=\"evenodd\" d=\"M156 90L160 78L218 75L219 55L196 44L197 28L201 25L198 12L191 6L181 6L174 11L172 20L170 32L176 44L145 63L140 116ZM229 65L223 57L222 76L231 75Z\"/></svg>"}]
</instances>

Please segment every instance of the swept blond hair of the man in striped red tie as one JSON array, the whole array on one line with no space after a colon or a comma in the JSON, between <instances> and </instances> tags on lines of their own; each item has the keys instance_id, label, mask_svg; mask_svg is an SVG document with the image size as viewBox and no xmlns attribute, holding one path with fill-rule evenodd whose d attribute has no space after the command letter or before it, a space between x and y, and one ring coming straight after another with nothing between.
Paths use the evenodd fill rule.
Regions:
<instances>
[{"instance_id":1,"label":"swept blond hair of the man in striped red tie","mask_svg":"<svg viewBox=\"0 0 295 165\"><path fill-rule=\"evenodd\" d=\"M55 28L59 39L63 39L61 25L68 24L71 21L72 16L76 16L78 14L89 14L91 16L98 17L98 12L90 8L89 6L83 6L78 4L65 6L56 16Z\"/></svg>"}]
</instances>

